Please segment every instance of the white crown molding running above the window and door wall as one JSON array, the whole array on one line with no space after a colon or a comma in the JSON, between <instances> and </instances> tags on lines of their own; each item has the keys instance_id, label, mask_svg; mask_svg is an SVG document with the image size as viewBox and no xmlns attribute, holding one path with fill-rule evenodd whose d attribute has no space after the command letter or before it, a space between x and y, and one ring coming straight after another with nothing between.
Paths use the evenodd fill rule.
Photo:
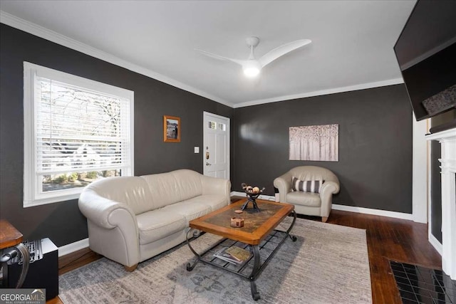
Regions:
<instances>
[{"instance_id":1,"label":"white crown molding running above the window and door wall","mask_svg":"<svg viewBox=\"0 0 456 304\"><path fill-rule=\"evenodd\" d=\"M114 65L118 65L122 68L126 68L131 70L135 73L140 73L141 75L145 75L147 77L153 78L155 80L159 80L162 83L167 83L168 85L172 85L176 88L180 88L182 90L186 90L187 92L194 93L196 95L202 96L204 98L208 98L210 100L214 100L217 103L222 103L223 105L227 105L229 107L233 107L232 103L229 103L227 100L199 90L197 88L192 87L191 85L186 85L185 83L181 83L180 81L174 80L169 78L165 75L160 73L156 73L153 70L149 70L147 68L142 68L140 65L136 65L135 63L130 63L125 61L121 58L111 55L110 53L106 53L105 51L100 51L98 48L93 48L92 46L88 46L85 43L81 43L76 41L72 38L68 38L60 33L55 31L51 31L48 28L44 28L43 26L38 26L35 23L31 23L14 15L8 14L5 11L0 11L0 23L4 23L7 26L11 26L17 28L21 31L25 31L26 33L31 33L34 36L38 36L40 38L46 39L53 43L60 44L61 46L66 46L67 48L71 48L75 51L84 53L88 56L92 56L98 58L102 61L106 61L108 63L112 63Z\"/></svg>"}]
</instances>

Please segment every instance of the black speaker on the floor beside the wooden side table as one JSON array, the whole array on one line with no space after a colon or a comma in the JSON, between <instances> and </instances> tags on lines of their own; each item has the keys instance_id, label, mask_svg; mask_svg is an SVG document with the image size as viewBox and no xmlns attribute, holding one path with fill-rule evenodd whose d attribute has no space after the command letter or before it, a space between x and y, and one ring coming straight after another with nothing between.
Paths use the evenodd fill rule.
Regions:
<instances>
[{"instance_id":1,"label":"black speaker on the floor beside the wooden side table","mask_svg":"<svg viewBox=\"0 0 456 304\"><path fill-rule=\"evenodd\" d=\"M28 266L28 273L21 288L46 288L46 300L58 295L58 248L50 239L41 240L43 258L33 261ZM8 265L8 285L14 288L22 266L18 263Z\"/></svg>"}]
</instances>

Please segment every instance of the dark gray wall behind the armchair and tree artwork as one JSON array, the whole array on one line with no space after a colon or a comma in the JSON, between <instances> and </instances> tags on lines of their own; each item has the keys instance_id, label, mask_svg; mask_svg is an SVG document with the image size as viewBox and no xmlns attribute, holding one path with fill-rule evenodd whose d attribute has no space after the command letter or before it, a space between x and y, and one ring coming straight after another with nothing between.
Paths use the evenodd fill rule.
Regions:
<instances>
[{"instance_id":1,"label":"dark gray wall behind the armchair and tree artwork","mask_svg":"<svg viewBox=\"0 0 456 304\"><path fill-rule=\"evenodd\" d=\"M331 169L341 192L333 202L412 213L412 110L404 85L234 109L237 151L232 187L266 187L292 167ZM289 160L289 127L339 125L339 161Z\"/></svg>"}]
</instances>

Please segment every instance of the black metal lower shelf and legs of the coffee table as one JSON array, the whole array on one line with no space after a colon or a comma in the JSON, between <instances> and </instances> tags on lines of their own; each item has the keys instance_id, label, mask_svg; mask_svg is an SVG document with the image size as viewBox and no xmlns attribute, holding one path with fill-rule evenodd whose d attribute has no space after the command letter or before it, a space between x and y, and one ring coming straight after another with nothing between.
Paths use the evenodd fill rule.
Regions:
<instances>
[{"instance_id":1,"label":"black metal lower shelf and legs of the coffee table","mask_svg":"<svg viewBox=\"0 0 456 304\"><path fill-rule=\"evenodd\" d=\"M260 295L257 290L257 283L255 283L258 276L264 270L267 263L269 263L271 258L276 254L276 252L279 250L282 244L286 241L286 239L290 238L292 241L296 241L296 236L292 236L291 234L289 234L296 221L296 213L294 213L294 211L293 215L294 219L289 229L287 229L287 231L275 229L271 232L271 234L266 236L266 238L263 241L261 241L259 245L248 245L246 243L242 243L241 241L221 239L203 253L197 253L195 249L192 248L190 244L191 241L188 238L187 234L187 245L189 246L192 253L194 253L196 256L195 261L193 261L192 263L187 263L187 271L192 271L198 262L202 262L204 264L212 265L214 267L223 269L224 271L234 273L235 275L250 281L252 298L254 300L259 300ZM190 231L191 229L189 229L189 232ZM214 256L214 253L219 251L221 248L232 246L238 246L240 248L244 248L245 250L250 251L250 258L248 258L247 261L244 261L242 263L234 264Z\"/></svg>"}]
</instances>

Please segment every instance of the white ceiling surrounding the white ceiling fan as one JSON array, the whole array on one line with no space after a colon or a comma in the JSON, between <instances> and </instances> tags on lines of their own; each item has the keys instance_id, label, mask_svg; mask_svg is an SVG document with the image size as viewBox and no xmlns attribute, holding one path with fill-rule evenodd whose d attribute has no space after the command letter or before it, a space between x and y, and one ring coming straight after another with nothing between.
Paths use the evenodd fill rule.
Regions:
<instances>
[{"instance_id":1,"label":"white ceiling surrounding the white ceiling fan","mask_svg":"<svg viewBox=\"0 0 456 304\"><path fill-rule=\"evenodd\" d=\"M234 108L402 82L393 46L415 1L9 1L1 22ZM21 20L23 19L23 20ZM26 21L26 22L24 22ZM312 43L249 80L239 65Z\"/></svg>"}]
</instances>

